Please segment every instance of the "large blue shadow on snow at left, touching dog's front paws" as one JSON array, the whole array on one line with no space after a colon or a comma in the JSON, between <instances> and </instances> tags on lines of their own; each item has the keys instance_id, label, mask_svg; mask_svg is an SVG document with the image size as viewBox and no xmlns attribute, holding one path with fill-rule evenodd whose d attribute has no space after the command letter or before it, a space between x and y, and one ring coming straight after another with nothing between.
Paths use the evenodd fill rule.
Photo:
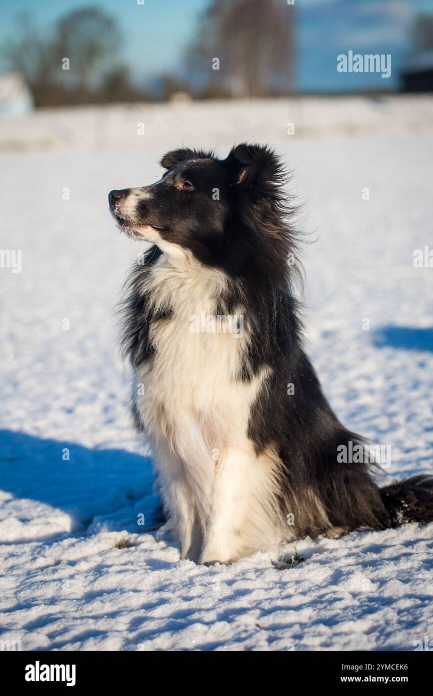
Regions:
<instances>
[{"instance_id":1,"label":"large blue shadow on snow at left, touching dog's front paws","mask_svg":"<svg viewBox=\"0 0 433 696\"><path fill-rule=\"evenodd\" d=\"M73 532L85 531L95 518L109 530L140 532L163 521L153 487L149 457L0 430L0 490L13 496L10 515L14 498L25 498L30 516L38 516L41 504L69 514Z\"/></svg>"}]
</instances>

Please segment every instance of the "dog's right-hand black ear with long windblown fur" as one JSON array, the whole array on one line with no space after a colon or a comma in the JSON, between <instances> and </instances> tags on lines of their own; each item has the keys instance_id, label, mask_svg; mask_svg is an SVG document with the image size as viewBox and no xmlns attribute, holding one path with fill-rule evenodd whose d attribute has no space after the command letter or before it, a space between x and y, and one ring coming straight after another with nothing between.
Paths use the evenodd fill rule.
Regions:
<instances>
[{"instance_id":1,"label":"dog's right-hand black ear with long windblown fur","mask_svg":"<svg viewBox=\"0 0 433 696\"><path fill-rule=\"evenodd\" d=\"M224 164L229 169L232 184L265 189L267 185L280 184L284 179L281 162L267 145L236 145Z\"/></svg>"}]
</instances>

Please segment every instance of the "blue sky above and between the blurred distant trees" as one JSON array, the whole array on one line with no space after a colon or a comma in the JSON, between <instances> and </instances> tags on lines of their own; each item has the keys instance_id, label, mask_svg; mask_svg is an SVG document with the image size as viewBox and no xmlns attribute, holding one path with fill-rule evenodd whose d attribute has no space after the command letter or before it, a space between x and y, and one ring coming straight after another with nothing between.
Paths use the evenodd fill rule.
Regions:
<instances>
[{"instance_id":1,"label":"blue sky above and between the blurred distant trees","mask_svg":"<svg viewBox=\"0 0 433 696\"><path fill-rule=\"evenodd\" d=\"M265 1L265 0L263 0ZM287 6L287 0L278 0ZM115 15L124 34L122 57L137 80L177 72L184 47L209 0L0 0L0 42L20 13L30 13L41 27L67 11L97 6ZM433 0L295 0L297 82L307 90L395 88L402 61L411 54L409 29L416 13L433 11ZM342 74L336 56L348 52L392 56L389 79L379 74Z\"/></svg>"}]
</instances>

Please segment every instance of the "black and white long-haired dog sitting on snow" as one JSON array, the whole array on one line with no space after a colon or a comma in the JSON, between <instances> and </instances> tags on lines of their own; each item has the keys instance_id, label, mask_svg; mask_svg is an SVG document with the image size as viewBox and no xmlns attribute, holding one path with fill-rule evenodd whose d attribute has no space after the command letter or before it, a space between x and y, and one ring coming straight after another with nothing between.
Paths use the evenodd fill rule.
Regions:
<instances>
[{"instance_id":1,"label":"black and white long-haired dog sitting on snow","mask_svg":"<svg viewBox=\"0 0 433 696\"><path fill-rule=\"evenodd\" d=\"M182 557L232 562L306 535L433 521L431 477L379 489L368 458L339 461L341 447L368 445L338 421L302 348L275 153L181 149L161 164L156 184L109 203L126 235L154 244L131 274L123 345Z\"/></svg>"}]
</instances>

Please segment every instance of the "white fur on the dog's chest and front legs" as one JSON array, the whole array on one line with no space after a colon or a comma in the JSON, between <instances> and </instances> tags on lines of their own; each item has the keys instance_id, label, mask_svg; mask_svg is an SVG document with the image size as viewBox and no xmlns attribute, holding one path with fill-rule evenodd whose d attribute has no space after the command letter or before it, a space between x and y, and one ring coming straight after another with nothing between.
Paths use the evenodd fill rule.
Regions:
<instances>
[{"instance_id":1,"label":"white fur on the dog's chest and front legs","mask_svg":"<svg viewBox=\"0 0 433 696\"><path fill-rule=\"evenodd\" d=\"M138 412L154 443L165 505L184 556L233 560L262 548L272 527L262 504L272 507L276 458L257 457L247 437L266 373L239 379L247 331L240 335L227 324L224 331L221 323L212 330L212 322L197 331L197 317L217 313L228 282L220 271L179 251L162 255L144 282L154 310L172 310L170 319L152 323L155 351L136 376ZM228 329L236 326L229 320Z\"/></svg>"}]
</instances>

